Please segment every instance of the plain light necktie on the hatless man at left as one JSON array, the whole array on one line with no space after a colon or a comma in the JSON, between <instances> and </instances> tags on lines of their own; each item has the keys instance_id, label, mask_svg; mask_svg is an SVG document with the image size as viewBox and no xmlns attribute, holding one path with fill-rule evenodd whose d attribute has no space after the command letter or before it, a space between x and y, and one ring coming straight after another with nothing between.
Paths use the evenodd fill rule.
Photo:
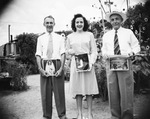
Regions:
<instances>
[{"instance_id":1,"label":"plain light necktie on the hatless man at left","mask_svg":"<svg viewBox=\"0 0 150 119\"><path fill-rule=\"evenodd\" d=\"M47 47L47 58L51 59L53 54L53 39L52 35L49 35L48 47Z\"/></svg>"}]
</instances>

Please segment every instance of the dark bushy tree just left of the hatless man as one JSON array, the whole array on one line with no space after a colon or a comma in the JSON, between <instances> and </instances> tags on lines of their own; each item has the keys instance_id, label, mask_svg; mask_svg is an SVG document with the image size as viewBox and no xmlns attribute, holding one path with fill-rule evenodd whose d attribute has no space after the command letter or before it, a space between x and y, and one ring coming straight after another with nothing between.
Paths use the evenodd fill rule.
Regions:
<instances>
[{"instance_id":1,"label":"dark bushy tree just left of the hatless man","mask_svg":"<svg viewBox=\"0 0 150 119\"><path fill-rule=\"evenodd\" d=\"M30 68L31 73L38 73L35 59L37 38L38 35L33 33L23 33L16 36L16 45L19 48L20 54L16 60L26 64L27 68Z\"/></svg>"}]
</instances>

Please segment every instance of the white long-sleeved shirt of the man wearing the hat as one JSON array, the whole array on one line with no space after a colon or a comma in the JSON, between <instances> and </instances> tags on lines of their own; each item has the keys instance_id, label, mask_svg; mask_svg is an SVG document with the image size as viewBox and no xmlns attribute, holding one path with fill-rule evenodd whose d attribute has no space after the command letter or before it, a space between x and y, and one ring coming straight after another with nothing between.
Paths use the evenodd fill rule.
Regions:
<instances>
[{"instance_id":1,"label":"white long-sleeved shirt of the man wearing the hat","mask_svg":"<svg viewBox=\"0 0 150 119\"><path fill-rule=\"evenodd\" d=\"M138 39L135 37L130 29L120 27L117 30L118 41L121 55L128 55L128 53L138 53L140 45ZM102 55L114 55L114 36L115 30L110 30L103 36Z\"/></svg>"}]
</instances>

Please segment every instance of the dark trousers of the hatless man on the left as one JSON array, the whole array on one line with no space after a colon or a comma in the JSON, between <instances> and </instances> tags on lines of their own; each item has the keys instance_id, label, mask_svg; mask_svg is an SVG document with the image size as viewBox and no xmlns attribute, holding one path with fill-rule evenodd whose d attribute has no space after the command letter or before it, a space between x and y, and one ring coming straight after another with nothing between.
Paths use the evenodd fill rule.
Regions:
<instances>
[{"instance_id":1,"label":"dark trousers of the hatless man on the left","mask_svg":"<svg viewBox=\"0 0 150 119\"><path fill-rule=\"evenodd\" d=\"M46 61L44 61L45 63ZM53 60L55 69L60 68L60 60ZM59 77L45 77L40 76L40 88L41 88L41 100L43 116L52 118L52 99L54 93L54 99L56 104L56 110L58 117L61 118L66 114L65 107L65 91L64 91L64 72Z\"/></svg>"}]
</instances>

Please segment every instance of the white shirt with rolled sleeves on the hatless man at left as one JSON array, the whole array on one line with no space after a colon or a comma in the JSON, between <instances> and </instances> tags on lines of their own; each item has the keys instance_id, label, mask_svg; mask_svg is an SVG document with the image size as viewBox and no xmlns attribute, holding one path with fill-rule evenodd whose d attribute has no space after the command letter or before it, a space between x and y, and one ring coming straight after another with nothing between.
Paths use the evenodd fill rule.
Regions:
<instances>
[{"instance_id":1,"label":"white shirt with rolled sleeves on the hatless man at left","mask_svg":"<svg viewBox=\"0 0 150 119\"><path fill-rule=\"evenodd\" d=\"M53 53L51 59L61 59L61 55L65 53L65 41L61 35L51 33L53 40ZM49 33L45 33L38 37L35 55L40 56L42 59L47 58L47 48L49 42Z\"/></svg>"}]
</instances>

